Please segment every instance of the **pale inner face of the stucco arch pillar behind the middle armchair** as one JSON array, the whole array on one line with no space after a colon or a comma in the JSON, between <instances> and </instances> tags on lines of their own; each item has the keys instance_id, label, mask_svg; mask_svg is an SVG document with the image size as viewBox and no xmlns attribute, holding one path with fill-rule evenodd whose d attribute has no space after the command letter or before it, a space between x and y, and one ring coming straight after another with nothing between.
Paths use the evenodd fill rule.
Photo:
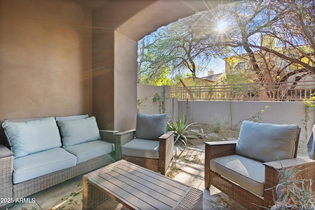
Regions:
<instances>
[{"instance_id":1,"label":"pale inner face of the stucco arch pillar behind the middle armchair","mask_svg":"<svg viewBox=\"0 0 315 210\"><path fill-rule=\"evenodd\" d=\"M137 116L137 41L115 32L115 129L135 128Z\"/></svg>"}]
</instances>

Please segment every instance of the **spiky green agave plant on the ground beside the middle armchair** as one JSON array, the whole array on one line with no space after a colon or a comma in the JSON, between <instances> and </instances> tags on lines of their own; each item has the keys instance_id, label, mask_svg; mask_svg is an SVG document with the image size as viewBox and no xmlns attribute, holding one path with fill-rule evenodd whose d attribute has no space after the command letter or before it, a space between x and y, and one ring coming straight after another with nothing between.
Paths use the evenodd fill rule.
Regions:
<instances>
[{"instance_id":1,"label":"spiky green agave plant on the ground beside the middle armchair","mask_svg":"<svg viewBox=\"0 0 315 210\"><path fill-rule=\"evenodd\" d=\"M179 142L180 144L187 144L187 138L198 138L201 134L198 131L191 130L190 126L196 126L196 122L189 123L189 120L186 120L184 114L179 113L179 119L175 120L172 115L172 121L167 123L167 131L174 131L174 144ZM195 133L196 135L189 135L189 133Z\"/></svg>"}]
</instances>

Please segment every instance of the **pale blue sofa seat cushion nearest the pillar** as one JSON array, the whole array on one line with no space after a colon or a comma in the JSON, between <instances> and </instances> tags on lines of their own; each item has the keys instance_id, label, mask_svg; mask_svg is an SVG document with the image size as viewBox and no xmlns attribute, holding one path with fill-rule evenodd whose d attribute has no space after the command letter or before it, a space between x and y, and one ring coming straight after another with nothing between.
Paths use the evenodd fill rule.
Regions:
<instances>
[{"instance_id":1,"label":"pale blue sofa seat cushion nearest the pillar","mask_svg":"<svg viewBox=\"0 0 315 210\"><path fill-rule=\"evenodd\" d=\"M64 148L77 157L77 164L114 151L114 144L102 140Z\"/></svg>"}]
</instances>

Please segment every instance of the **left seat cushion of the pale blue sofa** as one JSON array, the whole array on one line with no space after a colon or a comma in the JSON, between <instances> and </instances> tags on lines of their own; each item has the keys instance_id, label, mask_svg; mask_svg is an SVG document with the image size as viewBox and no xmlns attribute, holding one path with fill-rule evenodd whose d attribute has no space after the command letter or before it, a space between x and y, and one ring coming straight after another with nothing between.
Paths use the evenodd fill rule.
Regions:
<instances>
[{"instance_id":1,"label":"left seat cushion of the pale blue sofa","mask_svg":"<svg viewBox=\"0 0 315 210\"><path fill-rule=\"evenodd\" d=\"M55 148L19 157L13 161L13 183L31 180L76 165L76 156Z\"/></svg>"}]
</instances>

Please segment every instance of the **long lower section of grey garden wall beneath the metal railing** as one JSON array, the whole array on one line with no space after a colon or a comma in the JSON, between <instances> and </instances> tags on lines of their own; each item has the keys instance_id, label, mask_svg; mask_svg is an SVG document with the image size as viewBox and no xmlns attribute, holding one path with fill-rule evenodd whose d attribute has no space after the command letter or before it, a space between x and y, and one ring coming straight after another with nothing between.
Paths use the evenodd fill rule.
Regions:
<instances>
[{"instance_id":1,"label":"long lower section of grey garden wall beneath the metal railing","mask_svg":"<svg viewBox=\"0 0 315 210\"><path fill-rule=\"evenodd\" d=\"M298 124L301 128L301 138L304 139L305 109L302 102L281 101L179 101L179 110L188 113L191 122L209 123L214 121L216 115L225 118L225 126L235 126L241 120L250 119L265 106L269 106L262 114L260 122L275 124ZM308 134L311 134L315 124L314 112L310 113L312 119L308 122ZM239 126L241 123L239 124ZM238 128L239 128L238 126Z\"/></svg>"}]
</instances>

